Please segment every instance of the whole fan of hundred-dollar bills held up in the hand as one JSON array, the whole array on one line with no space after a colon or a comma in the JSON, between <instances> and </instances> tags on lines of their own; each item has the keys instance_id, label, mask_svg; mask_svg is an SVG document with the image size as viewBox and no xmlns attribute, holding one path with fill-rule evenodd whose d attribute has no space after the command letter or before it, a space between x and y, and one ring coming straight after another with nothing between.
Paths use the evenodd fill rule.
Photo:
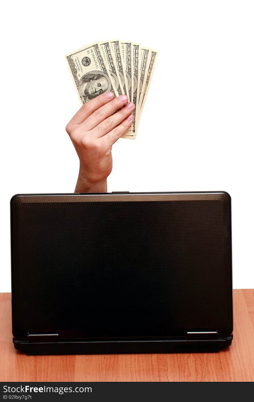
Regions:
<instances>
[{"instance_id":1,"label":"whole fan of hundred-dollar bills held up in the hand","mask_svg":"<svg viewBox=\"0 0 254 402\"><path fill-rule=\"evenodd\" d=\"M85 45L65 55L81 104L103 92L127 95L134 120L122 138L135 139L158 51L120 40Z\"/></svg>"}]
</instances>

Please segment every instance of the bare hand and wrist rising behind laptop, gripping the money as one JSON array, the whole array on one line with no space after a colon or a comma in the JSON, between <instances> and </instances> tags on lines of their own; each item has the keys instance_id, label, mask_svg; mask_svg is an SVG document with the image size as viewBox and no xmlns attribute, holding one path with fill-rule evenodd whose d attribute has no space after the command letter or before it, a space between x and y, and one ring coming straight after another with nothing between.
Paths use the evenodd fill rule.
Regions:
<instances>
[{"instance_id":1,"label":"bare hand and wrist rising behind laptop, gripping the money","mask_svg":"<svg viewBox=\"0 0 254 402\"><path fill-rule=\"evenodd\" d=\"M128 130L134 118L134 103L123 107L127 101L126 95L114 98L112 92L106 92L85 103L67 124L66 131L79 157L75 193L107 192L112 145Z\"/></svg>"}]
</instances>

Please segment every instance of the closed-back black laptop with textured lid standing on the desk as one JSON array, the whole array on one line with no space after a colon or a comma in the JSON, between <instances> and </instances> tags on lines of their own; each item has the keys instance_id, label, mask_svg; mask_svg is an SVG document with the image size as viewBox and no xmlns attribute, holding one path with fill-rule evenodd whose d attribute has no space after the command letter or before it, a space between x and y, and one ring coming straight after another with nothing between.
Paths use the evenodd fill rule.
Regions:
<instances>
[{"instance_id":1,"label":"closed-back black laptop with textured lid standing on the desk","mask_svg":"<svg viewBox=\"0 0 254 402\"><path fill-rule=\"evenodd\" d=\"M16 349L169 353L231 345L228 193L17 194L10 210Z\"/></svg>"}]
</instances>

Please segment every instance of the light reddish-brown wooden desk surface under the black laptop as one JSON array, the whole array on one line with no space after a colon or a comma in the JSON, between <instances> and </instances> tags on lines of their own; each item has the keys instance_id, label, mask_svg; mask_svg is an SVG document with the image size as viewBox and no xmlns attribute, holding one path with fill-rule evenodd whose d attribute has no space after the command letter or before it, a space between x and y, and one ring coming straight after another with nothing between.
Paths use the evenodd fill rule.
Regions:
<instances>
[{"instance_id":1,"label":"light reddish-brown wooden desk surface under the black laptop","mask_svg":"<svg viewBox=\"0 0 254 402\"><path fill-rule=\"evenodd\" d=\"M218 353L27 356L0 293L0 381L254 381L254 289L234 290L234 339Z\"/></svg>"}]
</instances>

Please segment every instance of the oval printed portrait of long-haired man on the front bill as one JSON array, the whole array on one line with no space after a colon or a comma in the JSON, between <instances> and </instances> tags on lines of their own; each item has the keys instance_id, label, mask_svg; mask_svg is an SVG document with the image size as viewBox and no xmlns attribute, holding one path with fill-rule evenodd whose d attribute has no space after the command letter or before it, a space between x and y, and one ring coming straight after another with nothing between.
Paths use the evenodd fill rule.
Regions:
<instances>
[{"instance_id":1,"label":"oval printed portrait of long-haired man on the front bill","mask_svg":"<svg viewBox=\"0 0 254 402\"><path fill-rule=\"evenodd\" d=\"M102 72L91 71L81 77L77 89L85 103L104 92L109 92L111 89L110 78Z\"/></svg>"}]
</instances>

